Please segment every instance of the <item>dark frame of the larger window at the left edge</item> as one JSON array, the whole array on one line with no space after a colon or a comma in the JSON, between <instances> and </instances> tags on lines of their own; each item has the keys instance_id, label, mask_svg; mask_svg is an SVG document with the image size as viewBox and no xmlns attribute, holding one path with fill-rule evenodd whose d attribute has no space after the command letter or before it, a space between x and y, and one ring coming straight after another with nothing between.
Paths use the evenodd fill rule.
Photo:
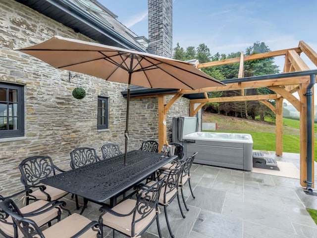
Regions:
<instances>
[{"instance_id":1,"label":"dark frame of the larger window at the left edge","mask_svg":"<svg viewBox=\"0 0 317 238\"><path fill-rule=\"evenodd\" d=\"M0 88L17 90L17 126L16 130L0 130L0 139L24 136L24 85L0 82ZM8 104L8 95L6 103ZM8 110L8 108L7 108ZM7 116L8 117L8 116Z\"/></svg>"}]
</instances>

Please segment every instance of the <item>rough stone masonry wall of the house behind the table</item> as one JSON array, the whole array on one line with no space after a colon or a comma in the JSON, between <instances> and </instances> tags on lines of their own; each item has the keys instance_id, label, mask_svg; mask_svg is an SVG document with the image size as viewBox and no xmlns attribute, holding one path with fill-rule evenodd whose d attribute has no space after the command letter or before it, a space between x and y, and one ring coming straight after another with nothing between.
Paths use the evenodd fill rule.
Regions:
<instances>
[{"instance_id":1,"label":"rough stone masonry wall of the house behind the table","mask_svg":"<svg viewBox=\"0 0 317 238\"><path fill-rule=\"evenodd\" d=\"M171 0L170 0L171 1ZM104 143L113 142L124 150L126 99L125 84L80 74L68 81L68 71L13 48L34 45L59 35L91 41L84 35L14 0L0 1L0 82L24 86L24 137L0 139L0 194L23 189L19 163L30 156L51 156L54 164L69 170L69 153L77 147L93 147L101 156ZM86 97L72 97L75 87L83 87ZM98 96L108 97L108 125L97 130ZM181 98L167 115L170 141L172 117L188 116L189 101ZM158 140L158 98L131 99L128 150L141 141Z\"/></svg>"}]
</instances>

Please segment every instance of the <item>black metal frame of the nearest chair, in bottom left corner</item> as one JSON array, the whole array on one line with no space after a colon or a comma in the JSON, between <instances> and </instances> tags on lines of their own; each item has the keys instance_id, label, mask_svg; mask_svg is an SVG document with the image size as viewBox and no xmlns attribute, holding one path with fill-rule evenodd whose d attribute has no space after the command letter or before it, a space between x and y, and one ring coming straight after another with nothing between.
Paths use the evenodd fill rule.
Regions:
<instances>
[{"instance_id":1,"label":"black metal frame of the nearest chair, in bottom left corner","mask_svg":"<svg viewBox=\"0 0 317 238\"><path fill-rule=\"evenodd\" d=\"M31 220L29 217L36 216L43 214L44 212L47 212L49 210L54 209L55 207L59 206L65 206L65 202L56 202L52 201L50 202L52 205L51 207L48 207L47 209L43 211L35 211L32 214L22 214L19 208L16 206L16 204L12 201L12 199L5 199L4 201L0 202L0 210L2 210L5 214L5 219L8 218L8 216L11 216L12 221L18 227L22 234L26 238L32 238L32 237L40 237L45 238L41 229L38 227L38 225ZM70 212L68 211L70 214ZM1 218L1 217L0 217ZM1 218L4 219L4 218ZM85 226L82 230L80 230L78 233L76 233L73 237L80 237L85 232L87 232L89 229L93 229L94 231L98 231L98 237L101 238L101 231L99 229L99 222L92 221L87 226Z\"/></svg>"}]
</instances>

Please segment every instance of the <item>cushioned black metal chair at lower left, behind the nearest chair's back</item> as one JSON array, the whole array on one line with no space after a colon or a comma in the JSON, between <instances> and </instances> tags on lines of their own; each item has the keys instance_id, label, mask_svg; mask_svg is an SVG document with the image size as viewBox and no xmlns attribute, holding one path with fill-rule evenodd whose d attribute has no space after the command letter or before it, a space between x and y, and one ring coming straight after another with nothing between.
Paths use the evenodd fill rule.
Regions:
<instances>
[{"instance_id":1,"label":"cushioned black metal chair at lower left, behind the nearest chair's back","mask_svg":"<svg viewBox=\"0 0 317 238\"><path fill-rule=\"evenodd\" d=\"M30 191L30 189L27 189ZM25 193L26 190L17 192L13 195L3 197L0 195L0 201L4 201L5 199L16 199L19 195ZM52 225L52 221L56 219L57 222L60 221L61 208L60 205L63 203L58 201L45 201L45 200L37 200L29 205L26 205L20 208L22 214L30 217L34 220L34 222L42 227L48 224L49 227ZM36 215L37 214L37 215ZM22 232L17 228L17 226L12 221L11 217L7 216L0 209L0 234L4 238L21 238L23 237Z\"/></svg>"}]
</instances>

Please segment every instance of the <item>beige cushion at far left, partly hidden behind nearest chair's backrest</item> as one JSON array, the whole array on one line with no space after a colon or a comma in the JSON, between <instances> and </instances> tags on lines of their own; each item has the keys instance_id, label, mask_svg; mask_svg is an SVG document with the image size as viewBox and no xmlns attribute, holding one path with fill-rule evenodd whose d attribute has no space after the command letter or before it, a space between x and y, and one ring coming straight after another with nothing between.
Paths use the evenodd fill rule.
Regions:
<instances>
[{"instance_id":1,"label":"beige cushion at far left, partly hidden behind nearest chair's backrest","mask_svg":"<svg viewBox=\"0 0 317 238\"><path fill-rule=\"evenodd\" d=\"M35 201L32 202L31 204L22 207L20 209L20 211L22 213L28 213L28 212L32 212L42 206L44 206L45 204L47 204L47 201L44 200L39 200L39 201ZM32 219L39 227L43 226L44 224L46 224L47 222L51 221L53 218L55 218L57 216L57 208L54 208L44 214L38 215L38 216L34 216L34 217L29 217L30 219ZM12 222L11 217L8 217L7 219L8 222ZM0 222L0 229L6 233L8 236L10 237L14 237L14 230L13 230L13 226L12 225L8 225L8 224L4 224L2 222ZM18 237L23 237L23 234L21 232L20 229L18 229Z\"/></svg>"}]
</instances>

